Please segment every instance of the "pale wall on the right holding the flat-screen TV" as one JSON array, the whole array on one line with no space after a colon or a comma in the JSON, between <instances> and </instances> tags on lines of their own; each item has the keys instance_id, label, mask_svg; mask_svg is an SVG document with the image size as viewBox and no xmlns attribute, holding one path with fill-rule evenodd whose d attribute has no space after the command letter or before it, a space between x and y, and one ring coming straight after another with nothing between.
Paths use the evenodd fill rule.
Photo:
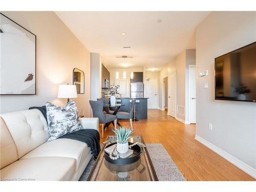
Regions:
<instances>
[{"instance_id":1,"label":"pale wall on the right holding the flat-screen TV","mask_svg":"<svg viewBox=\"0 0 256 192\"><path fill-rule=\"evenodd\" d=\"M253 41L256 12L212 12L197 27L197 72L209 70L209 76L197 77L196 134L242 161L256 177L256 103L214 99L214 58Z\"/></svg>"}]
</instances>

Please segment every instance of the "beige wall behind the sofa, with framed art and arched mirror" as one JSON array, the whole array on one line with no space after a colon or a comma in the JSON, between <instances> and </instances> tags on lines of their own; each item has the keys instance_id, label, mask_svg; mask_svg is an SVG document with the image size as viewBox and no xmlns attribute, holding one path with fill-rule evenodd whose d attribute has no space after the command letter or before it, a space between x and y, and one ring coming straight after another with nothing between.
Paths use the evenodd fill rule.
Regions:
<instances>
[{"instance_id":1,"label":"beige wall behind the sofa, with framed art and arched mirror","mask_svg":"<svg viewBox=\"0 0 256 192\"><path fill-rule=\"evenodd\" d=\"M65 105L57 99L58 84L72 84L73 69L85 75L85 94L75 99L79 114L90 116L90 52L54 12L2 12L37 36L36 95L2 95L1 113L27 110L46 101Z\"/></svg>"}]
</instances>

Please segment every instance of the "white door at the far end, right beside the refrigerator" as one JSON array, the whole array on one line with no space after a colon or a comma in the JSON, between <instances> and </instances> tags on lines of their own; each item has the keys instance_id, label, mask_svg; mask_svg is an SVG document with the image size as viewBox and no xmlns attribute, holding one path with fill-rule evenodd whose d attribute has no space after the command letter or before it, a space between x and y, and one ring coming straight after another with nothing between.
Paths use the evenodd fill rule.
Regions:
<instances>
[{"instance_id":1,"label":"white door at the far end, right beside the refrigerator","mask_svg":"<svg viewBox=\"0 0 256 192\"><path fill-rule=\"evenodd\" d=\"M158 80L149 79L145 83L145 91L147 99L148 109L158 109Z\"/></svg>"}]
</instances>

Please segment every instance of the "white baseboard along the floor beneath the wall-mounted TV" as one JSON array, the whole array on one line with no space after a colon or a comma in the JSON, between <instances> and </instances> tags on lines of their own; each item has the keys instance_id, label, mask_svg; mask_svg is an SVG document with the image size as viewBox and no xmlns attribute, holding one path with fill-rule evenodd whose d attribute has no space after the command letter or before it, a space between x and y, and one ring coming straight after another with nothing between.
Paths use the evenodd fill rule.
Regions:
<instances>
[{"instance_id":1,"label":"white baseboard along the floor beneath the wall-mounted TV","mask_svg":"<svg viewBox=\"0 0 256 192\"><path fill-rule=\"evenodd\" d=\"M228 154L227 152L221 150L221 148L211 144L210 142L206 141L202 137L196 135L195 139L202 143L203 145L207 146L210 150L214 151L233 165L236 165L238 168L242 169L245 173L250 175L251 177L256 179L256 169L252 168L251 166L247 165L246 163L242 162L241 160L233 157L232 155Z\"/></svg>"}]
</instances>

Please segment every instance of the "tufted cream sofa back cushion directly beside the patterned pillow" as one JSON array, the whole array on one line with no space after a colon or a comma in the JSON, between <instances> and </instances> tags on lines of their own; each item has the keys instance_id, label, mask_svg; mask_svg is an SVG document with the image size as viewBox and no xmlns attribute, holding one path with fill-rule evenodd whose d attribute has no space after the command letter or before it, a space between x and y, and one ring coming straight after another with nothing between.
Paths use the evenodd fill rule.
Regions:
<instances>
[{"instance_id":1,"label":"tufted cream sofa back cushion directly beside the patterned pillow","mask_svg":"<svg viewBox=\"0 0 256 192\"><path fill-rule=\"evenodd\" d=\"M49 137L46 119L39 110L5 113L1 117L16 145L18 158L45 143Z\"/></svg>"}]
</instances>

